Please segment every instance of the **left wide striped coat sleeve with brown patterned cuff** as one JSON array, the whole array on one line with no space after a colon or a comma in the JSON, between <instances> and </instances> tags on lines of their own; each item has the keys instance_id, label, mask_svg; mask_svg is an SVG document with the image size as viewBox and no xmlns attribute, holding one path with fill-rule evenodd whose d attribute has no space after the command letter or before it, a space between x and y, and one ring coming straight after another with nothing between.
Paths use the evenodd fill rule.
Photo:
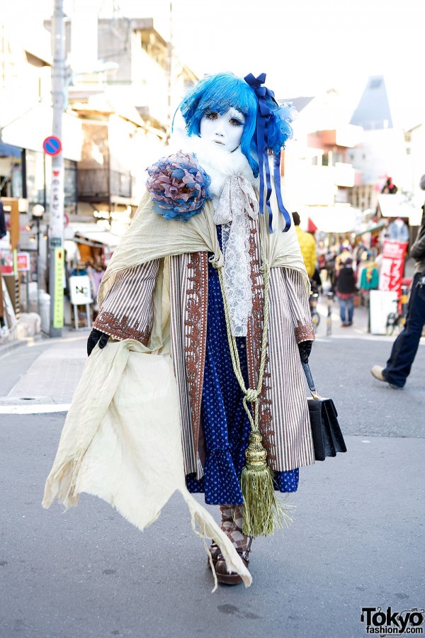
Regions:
<instances>
[{"instance_id":1,"label":"left wide striped coat sleeve with brown patterned cuff","mask_svg":"<svg viewBox=\"0 0 425 638\"><path fill-rule=\"evenodd\" d=\"M119 272L103 300L94 328L114 339L135 339L147 345L154 315L153 291L159 259Z\"/></svg>"}]
</instances>

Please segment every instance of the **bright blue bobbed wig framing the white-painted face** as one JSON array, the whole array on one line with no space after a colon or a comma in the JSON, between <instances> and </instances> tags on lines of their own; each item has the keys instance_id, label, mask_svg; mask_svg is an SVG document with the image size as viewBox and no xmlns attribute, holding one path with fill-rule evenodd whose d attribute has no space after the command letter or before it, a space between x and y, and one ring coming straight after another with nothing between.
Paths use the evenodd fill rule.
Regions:
<instances>
[{"instance_id":1,"label":"bright blue bobbed wig framing the white-painted face","mask_svg":"<svg viewBox=\"0 0 425 638\"><path fill-rule=\"evenodd\" d=\"M224 115L229 108L236 108L245 116L241 150L251 166L254 177L259 174L259 150L256 143L257 112L259 100L254 89L233 73L218 73L201 79L188 92L180 105L188 135L200 135L200 121L208 111ZM290 123L293 108L276 102L270 104L273 116L268 123L266 146L278 155L286 140L292 137Z\"/></svg>"}]
</instances>

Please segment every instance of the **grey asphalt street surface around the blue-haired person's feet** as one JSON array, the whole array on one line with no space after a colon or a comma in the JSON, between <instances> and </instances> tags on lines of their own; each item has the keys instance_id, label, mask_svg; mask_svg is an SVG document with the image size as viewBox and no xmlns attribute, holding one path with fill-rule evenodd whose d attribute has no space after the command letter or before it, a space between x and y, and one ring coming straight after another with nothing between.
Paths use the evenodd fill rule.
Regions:
<instances>
[{"instance_id":1,"label":"grey asphalt street surface around the blue-haired person's feet","mask_svg":"<svg viewBox=\"0 0 425 638\"><path fill-rule=\"evenodd\" d=\"M145 532L85 494L41 507L86 337L0 352L1 638L356 638L363 607L424 608L425 345L392 390L369 371L391 340L361 313L328 337L322 318L310 363L348 452L300 470L293 523L253 544L251 588L211 593L179 496Z\"/></svg>"}]
</instances>

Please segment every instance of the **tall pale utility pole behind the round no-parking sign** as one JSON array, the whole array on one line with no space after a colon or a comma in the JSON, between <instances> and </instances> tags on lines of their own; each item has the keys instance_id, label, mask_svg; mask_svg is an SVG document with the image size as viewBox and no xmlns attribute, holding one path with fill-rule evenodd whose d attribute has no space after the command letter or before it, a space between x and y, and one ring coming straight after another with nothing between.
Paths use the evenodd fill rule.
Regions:
<instances>
[{"instance_id":1,"label":"tall pale utility pole behind the round no-parking sign","mask_svg":"<svg viewBox=\"0 0 425 638\"><path fill-rule=\"evenodd\" d=\"M54 1L55 9L52 17L52 135L60 140L60 145L59 151L52 155L52 188L50 191L50 337L62 337L64 325L64 157L61 140L66 67L63 0Z\"/></svg>"}]
</instances>

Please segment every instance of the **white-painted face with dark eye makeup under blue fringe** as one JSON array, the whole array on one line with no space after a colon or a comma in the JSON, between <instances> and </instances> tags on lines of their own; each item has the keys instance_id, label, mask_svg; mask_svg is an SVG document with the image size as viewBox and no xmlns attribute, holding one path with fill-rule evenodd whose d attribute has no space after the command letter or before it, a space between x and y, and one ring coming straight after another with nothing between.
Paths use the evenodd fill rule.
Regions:
<instances>
[{"instance_id":1,"label":"white-painted face with dark eye makeup under blue fringe","mask_svg":"<svg viewBox=\"0 0 425 638\"><path fill-rule=\"evenodd\" d=\"M244 125L245 116L236 108L229 108L224 115L207 111L200 120L200 137L231 153L241 143Z\"/></svg>"}]
</instances>

